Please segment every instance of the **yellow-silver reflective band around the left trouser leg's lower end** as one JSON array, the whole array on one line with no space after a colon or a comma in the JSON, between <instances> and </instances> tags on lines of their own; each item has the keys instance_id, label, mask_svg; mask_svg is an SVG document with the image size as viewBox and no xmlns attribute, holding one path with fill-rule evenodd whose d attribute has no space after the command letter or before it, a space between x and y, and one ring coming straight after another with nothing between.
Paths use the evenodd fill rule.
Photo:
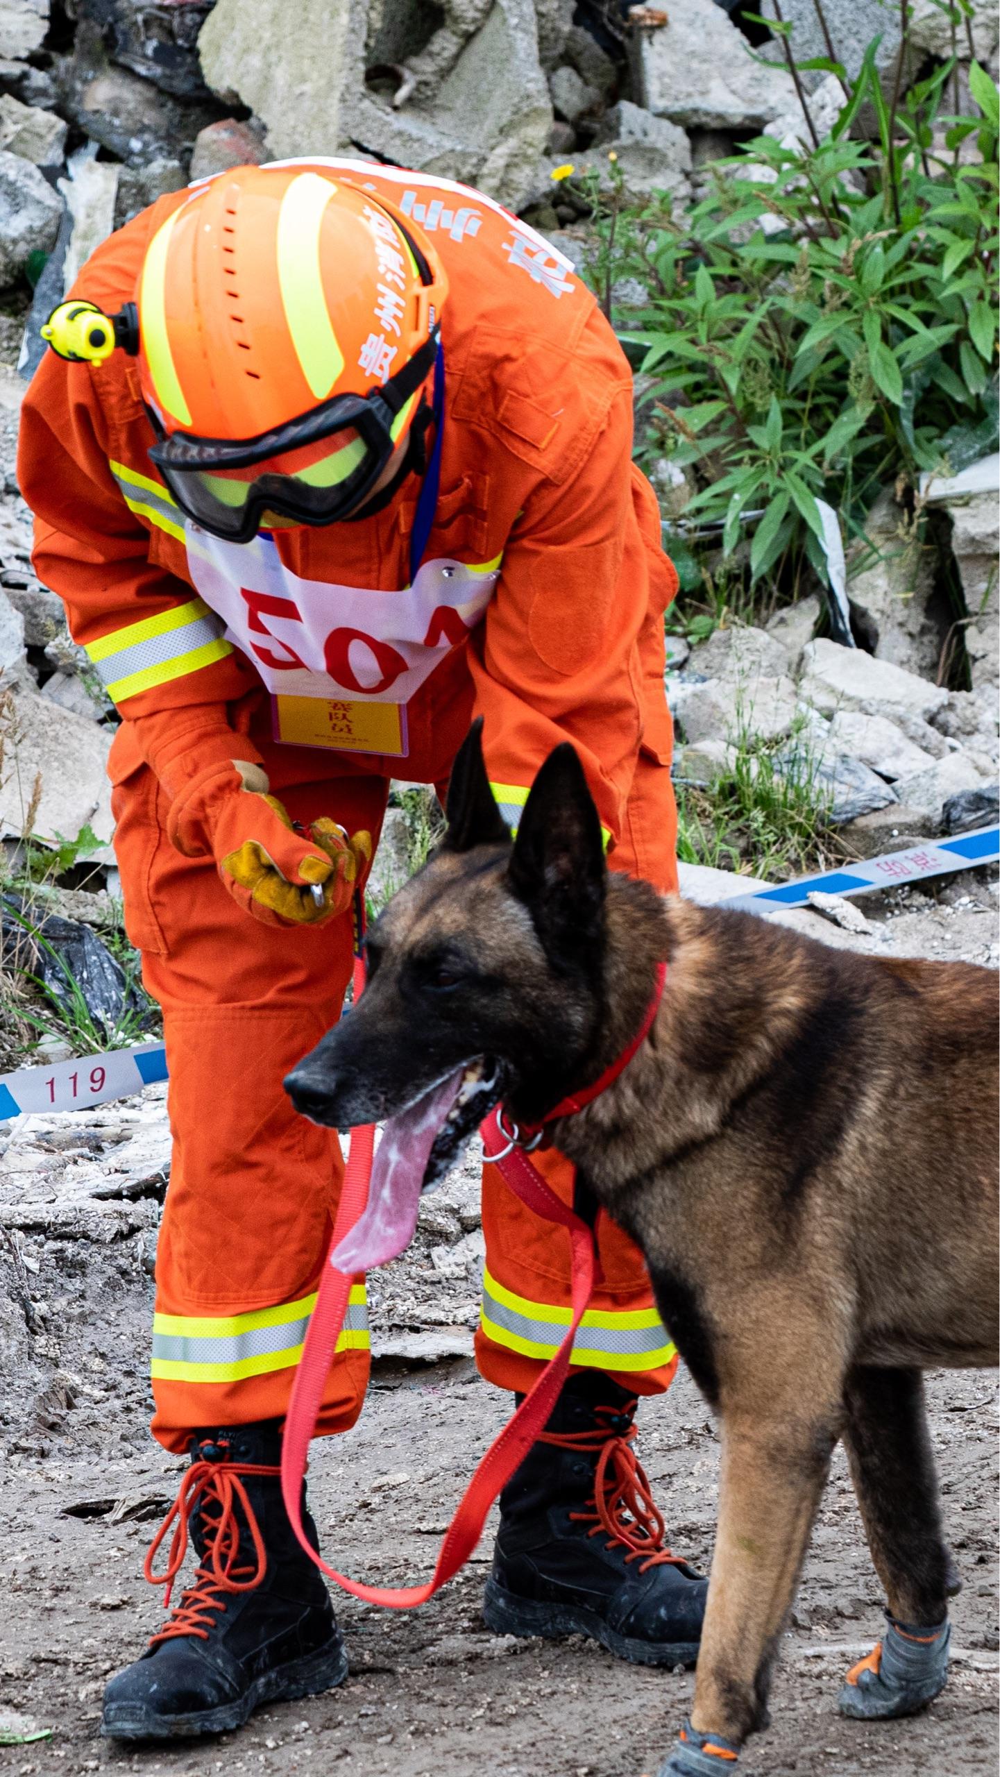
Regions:
<instances>
[{"instance_id":1,"label":"yellow-silver reflective band around the left trouser leg's lower end","mask_svg":"<svg viewBox=\"0 0 1000 1777\"><path fill-rule=\"evenodd\" d=\"M153 1379L163 1383L240 1383L249 1375L291 1370L302 1356L314 1306L316 1295L313 1294L247 1315L218 1319L153 1315ZM368 1351L369 1345L364 1285L355 1283L337 1351Z\"/></svg>"}]
</instances>

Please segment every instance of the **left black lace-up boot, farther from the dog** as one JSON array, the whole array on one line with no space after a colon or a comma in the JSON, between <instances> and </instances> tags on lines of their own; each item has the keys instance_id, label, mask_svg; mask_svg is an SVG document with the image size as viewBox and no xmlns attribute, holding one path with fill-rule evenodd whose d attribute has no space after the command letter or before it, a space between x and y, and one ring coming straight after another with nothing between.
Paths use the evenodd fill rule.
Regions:
<instances>
[{"instance_id":1,"label":"left black lace-up boot, farther from the dog","mask_svg":"<svg viewBox=\"0 0 1000 1777\"><path fill-rule=\"evenodd\" d=\"M105 1690L101 1734L114 1740L218 1734L261 1702L311 1697L346 1677L330 1596L284 1510L279 1422L197 1432L190 1457L146 1578L171 1587L188 1532L199 1566L167 1626ZM302 1521L318 1548L313 1519ZM155 1574L171 1526L167 1569Z\"/></svg>"}]
</instances>

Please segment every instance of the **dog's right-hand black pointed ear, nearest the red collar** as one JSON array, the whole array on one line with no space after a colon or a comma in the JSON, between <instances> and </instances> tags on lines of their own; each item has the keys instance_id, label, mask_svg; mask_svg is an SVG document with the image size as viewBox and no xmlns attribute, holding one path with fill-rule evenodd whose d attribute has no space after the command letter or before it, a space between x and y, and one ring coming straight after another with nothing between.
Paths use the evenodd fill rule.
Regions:
<instances>
[{"instance_id":1,"label":"dog's right-hand black pointed ear, nearest the red collar","mask_svg":"<svg viewBox=\"0 0 1000 1777\"><path fill-rule=\"evenodd\" d=\"M531 785L508 883L524 901L545 952L567 963L602 936L607 865L600 821L577 752L565 741Z\"/></svg>"}]
</instances>

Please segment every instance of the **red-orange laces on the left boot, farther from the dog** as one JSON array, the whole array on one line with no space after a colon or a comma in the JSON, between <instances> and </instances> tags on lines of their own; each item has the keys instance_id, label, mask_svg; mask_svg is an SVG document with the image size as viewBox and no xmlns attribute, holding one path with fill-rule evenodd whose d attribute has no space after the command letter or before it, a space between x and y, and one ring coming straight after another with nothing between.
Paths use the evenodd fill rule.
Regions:
<instances>
[{"instance_id":1,"label":"red-orange laces on the left boot, farther from the dog","mask_svg":"<svg viewBox=\"0 0 1000 1777\"><path fill-rule=\"evenodd\" d=\"M190 1518L195 1507L201 1507L202 1514L204 1555L192 1583L185 1587L181 1601L174 1606L171 1621L151 1637L151 1647L156 1642L171 1640L174 1635L197 1635L201 1640L208 1640L213 1615L218 1610L226 1610L226 1599L218 1594L252 1592L261 1583L268 1557L254 1509L240 1478L242 1475L277 1477L281 1470L263 1462L192 1462L187 1470L178 1489L178 1498L153 1537L149 1553L142 1564L142 1573L149 1583L165 1587L163 1610L171 1606L171 1590L185 1564ZM254 1544L252 1567L247 1562L240 1564L240 1519L236 1505L243 1512ZM155 1573L153 1562L171 1526L172 1537L167 1566L163 1573Z\"/></svg>"}]
</instances>

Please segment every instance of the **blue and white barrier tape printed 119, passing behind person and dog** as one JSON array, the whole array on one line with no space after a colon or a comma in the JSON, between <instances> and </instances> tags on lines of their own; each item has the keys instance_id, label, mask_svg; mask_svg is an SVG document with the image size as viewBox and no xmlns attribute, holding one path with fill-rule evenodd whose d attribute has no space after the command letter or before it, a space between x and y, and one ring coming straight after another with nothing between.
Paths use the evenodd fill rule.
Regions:
<instances>
[{"instance_id":1,"label":"blue and white barrier tape printed 119, passing behind person and dog","mask_svg":"<svg viewBox=\"0 0 1000 1777\"><path fill-rule=\"evenodd\" d=\"M803 876L780 888L757 888L753 894L734 896L719 906L739 912L758 912L760 903L771 906L808 906L813 888L826 894L870 894L874 888L899 888L922 876L945 876L948 871L966 871L975 864L995 864L1000 858L1000 826L980 826L957 839L927 841L908 851L888 851L865 864L849 864L819 876ZM110 1048L101 1056L82 1056L76 1061L55 1061L48 1068L20 1068L0 1075L0 1123L21 1111L89 1111L110 1098L128 1098L153 1080L167 1079L167 1052L163 1043L140 1043L137 1048Z\"/></svg>"}]
</instances>

